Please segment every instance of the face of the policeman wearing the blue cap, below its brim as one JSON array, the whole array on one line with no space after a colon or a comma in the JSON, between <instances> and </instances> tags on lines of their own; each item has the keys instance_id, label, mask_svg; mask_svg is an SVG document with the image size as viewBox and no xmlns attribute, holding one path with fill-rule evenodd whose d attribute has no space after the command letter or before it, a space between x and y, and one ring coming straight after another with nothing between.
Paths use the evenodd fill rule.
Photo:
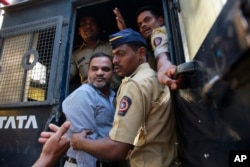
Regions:
<instances>
[{"instance_id":1,"label":"face of the policeman wearing the blue cap, below its brim","mask_svg":"<svg viewBox=\"0 0 250 167\"><path fill-rule=\"evenodd\" d=\"M114 69L117 75L124 77L131 75L141 64L143 53L134 51L130 46L123 44L112 50Z\"/></svg>"}]
</instances>

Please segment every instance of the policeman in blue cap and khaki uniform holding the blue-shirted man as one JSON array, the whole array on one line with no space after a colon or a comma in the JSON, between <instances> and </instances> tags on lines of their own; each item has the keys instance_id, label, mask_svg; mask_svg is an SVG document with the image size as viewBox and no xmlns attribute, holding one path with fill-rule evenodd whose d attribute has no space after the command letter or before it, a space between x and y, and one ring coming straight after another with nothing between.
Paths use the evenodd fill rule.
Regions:
<instances>
[{"instance_id":1,"label":"policeman in blue cap and khaki uniform holding the blue-shirted man","mask_svg":"<svg viewBox=\"0 0 250 167\"><path fill-rule=\"evenodd\" d=\"M145 39L132 29L110 35L116 73L124 77L109 137L89 140L73 134L72 146L102 160L129 158L131 167L175 166L177 149L170 92L146 62Z\"/></svg>"}]
</instances>

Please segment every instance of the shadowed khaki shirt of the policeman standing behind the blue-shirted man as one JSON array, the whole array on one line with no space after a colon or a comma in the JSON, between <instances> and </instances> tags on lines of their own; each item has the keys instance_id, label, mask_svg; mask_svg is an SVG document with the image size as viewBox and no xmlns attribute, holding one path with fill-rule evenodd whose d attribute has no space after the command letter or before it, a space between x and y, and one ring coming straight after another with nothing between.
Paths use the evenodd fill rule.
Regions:
<instances>
[{"instance_id":1,"label":"shadowed khaki shirt of the policeman standing behind the blue-shirted man","mask_svg":"<svg viewBox=\"0 0 250 167\"><path fill-rule=\"evenodd\" d=\"M70 75L75 76L79 72L81 83L88 82L88 66L90 57L98 52L111 55L112 47L108 42L98 41L94 49L89 48L85 43L73 53L71 59ZM117 90L120 86L121 79L114 76L111 83L111 88Z\"/></svg>"}]
</instances>

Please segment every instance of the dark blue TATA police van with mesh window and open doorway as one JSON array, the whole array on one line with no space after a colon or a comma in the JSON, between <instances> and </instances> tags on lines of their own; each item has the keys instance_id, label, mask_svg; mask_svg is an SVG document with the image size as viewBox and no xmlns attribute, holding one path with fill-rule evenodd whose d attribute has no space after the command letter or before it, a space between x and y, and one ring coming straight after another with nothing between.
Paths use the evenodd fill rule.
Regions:
<instances>
[{"instance_id":1,"label":"dark blue TATA police van with mesh window and open doorway","mask_svg":"<svg viewBox=\"0 0 250 167\"><path fill-rule=\"evenodd\" d=\"M70 61L81 43L84 12L102 38L118 31L118 7L138 30L136 10L162 9L176 77L171 92L179 141L178 166L227 167L250 159L250 36L248 0L0 0L0 166L28 167L37 139L60 125L62 101L80 86ZM242 156L244 155L244 156ZM248 157L247 157L248 156ZM241 158L243 157L243 158ZM63 166L63 160L58 166Z\"/></svg>"}]
</instances>

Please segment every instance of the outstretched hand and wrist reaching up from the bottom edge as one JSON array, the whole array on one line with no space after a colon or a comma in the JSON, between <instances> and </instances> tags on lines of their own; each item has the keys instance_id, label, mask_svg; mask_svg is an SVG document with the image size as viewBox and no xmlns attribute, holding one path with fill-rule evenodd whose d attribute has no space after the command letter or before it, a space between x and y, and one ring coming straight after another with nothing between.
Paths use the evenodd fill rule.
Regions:
<instances>
[{"instance_id":1,"label":"outstretched hand and wrist reaching up from the bottom edge","mask_svg":"<svg viewBox=\"0 0 250 167\"><path fill-rule=\"evenodd\" d=\"M70 139L65 134L70 127L68 121L64 122L60 128L53 124L50 124L49 127L53 132L41 133L38 141L44 146L33 167L53 166L70 147Z\"/></svg>"}]
</instances>

